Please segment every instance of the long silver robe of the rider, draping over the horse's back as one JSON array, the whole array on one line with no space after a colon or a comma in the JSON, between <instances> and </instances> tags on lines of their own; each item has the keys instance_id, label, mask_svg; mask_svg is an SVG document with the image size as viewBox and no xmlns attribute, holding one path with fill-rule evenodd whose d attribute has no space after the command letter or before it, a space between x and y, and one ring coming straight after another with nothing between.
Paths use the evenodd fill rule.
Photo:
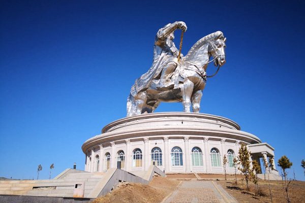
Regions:
<instances>
[{"instance_id":1,"label":"long silver robe of the rider, draping over the horse's back","mask_svg":"<svg viewBox=\"0 0 305 203\"><path fill-rule=\"evenodd\" d=\"M161 74L163 67L170 61L177 62L177 55L179 50L176 48L174 42L168 38L162 39L160 33L163 28L159 29L154 45L154 61L150 69L138 78L135 82L137 92L146 90L151 81L158 78Z\"/></svg>"}]
</instances>

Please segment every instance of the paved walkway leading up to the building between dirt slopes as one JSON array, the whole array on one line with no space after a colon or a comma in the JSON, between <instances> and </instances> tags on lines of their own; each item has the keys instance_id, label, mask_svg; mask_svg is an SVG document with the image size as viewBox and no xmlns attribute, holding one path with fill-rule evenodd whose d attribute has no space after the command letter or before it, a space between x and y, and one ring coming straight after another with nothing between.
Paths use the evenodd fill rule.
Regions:
<instances>
[{"instance_id":1,"label":"paved walkway leading up to the building between dirt slopes","mask_svg":"<svg viewBox=\"0 0 305 203\"><path fill-rule=\"evenodd\" d=\"M178 188L164 201L164 203L236 203L237 201L229 195L215 181L182 181Z\"/></svg>"}]
</instances>

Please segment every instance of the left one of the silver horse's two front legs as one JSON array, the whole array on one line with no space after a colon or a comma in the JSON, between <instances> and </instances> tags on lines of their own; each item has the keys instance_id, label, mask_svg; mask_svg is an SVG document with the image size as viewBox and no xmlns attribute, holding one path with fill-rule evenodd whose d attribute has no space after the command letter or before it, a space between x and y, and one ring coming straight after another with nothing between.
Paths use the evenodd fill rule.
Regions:
<instances>
[{"instance_id":1,"label":"left one of the silver horse's two front legs","mask_svg":"<svg viewBox=\"0 0 305 203\"><path fill-rule=\"evenodd\" d=\"M182 93L182 104L185 112L191 112L191 96L194 89L194 83L192 83L188 78L184 80L183 83L179 85Z\"/></svg>"}]
</instances>

